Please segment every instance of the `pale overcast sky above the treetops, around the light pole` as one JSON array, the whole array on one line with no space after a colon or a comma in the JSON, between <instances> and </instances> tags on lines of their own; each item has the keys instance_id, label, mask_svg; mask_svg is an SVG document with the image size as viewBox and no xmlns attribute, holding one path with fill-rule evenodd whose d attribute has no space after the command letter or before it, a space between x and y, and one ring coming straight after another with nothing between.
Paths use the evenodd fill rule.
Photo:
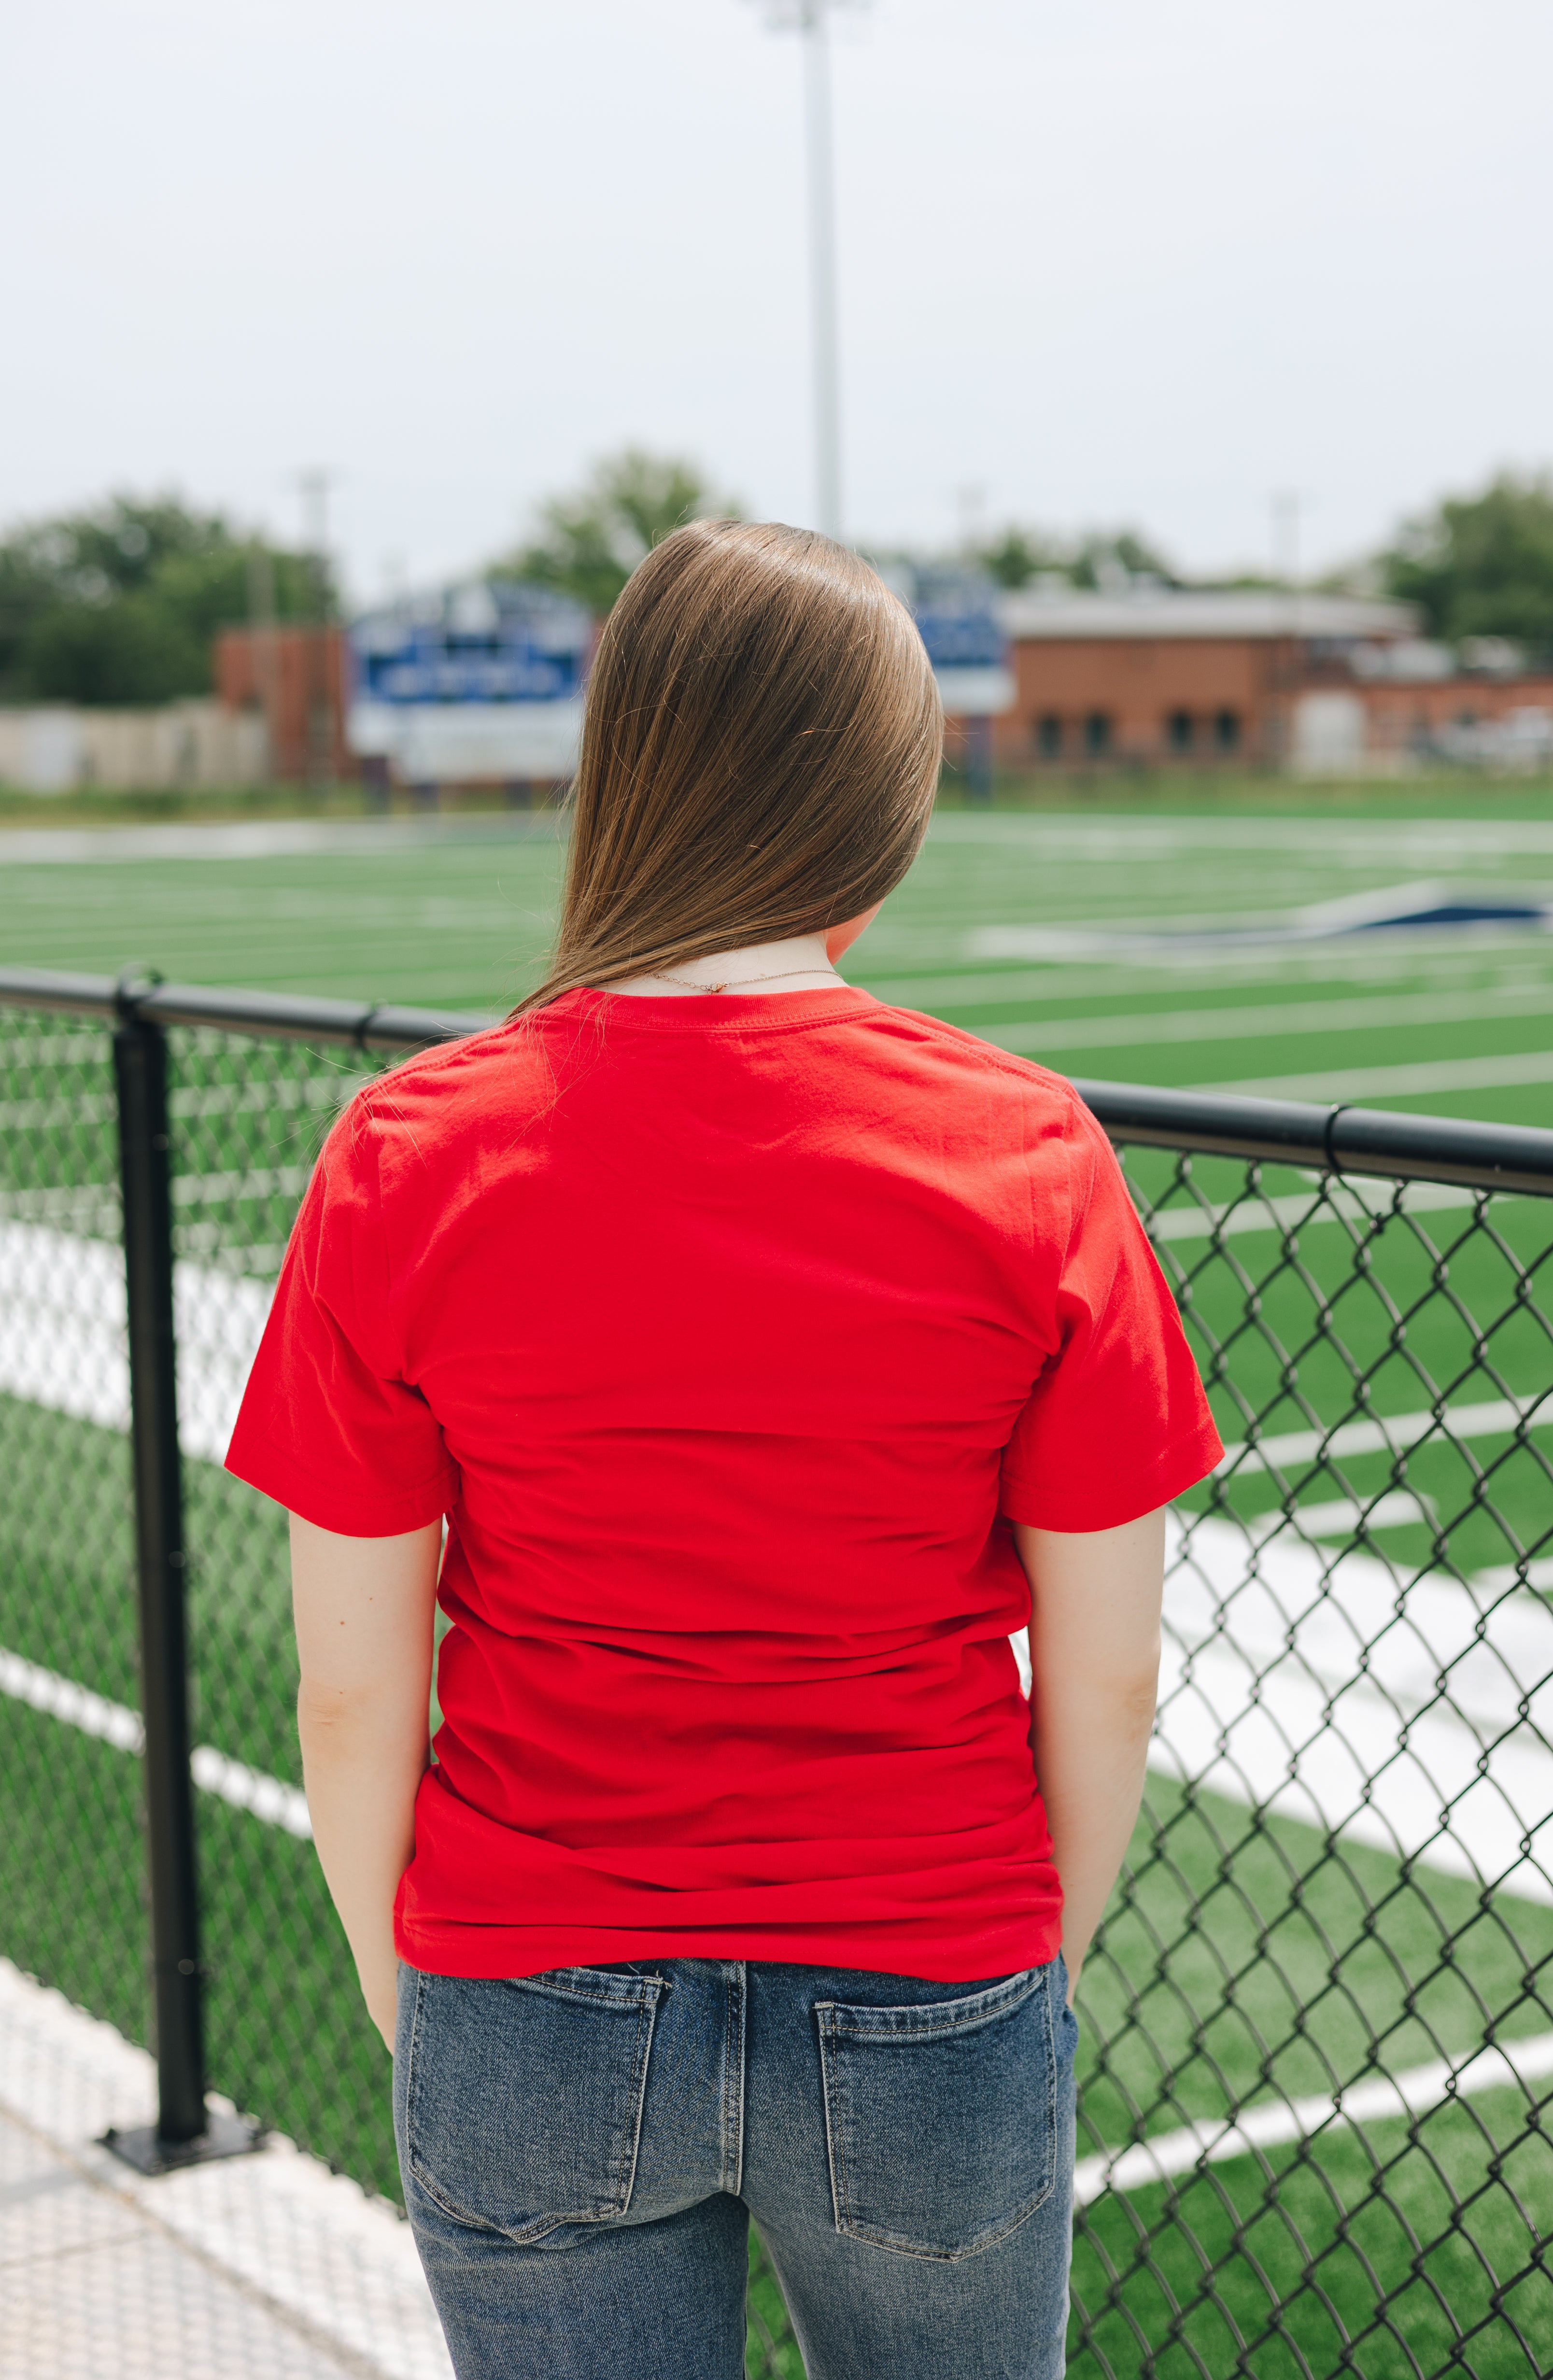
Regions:
<instances>
[{"instance_id":1,"label":"pale overcast sky above the treetops, around the light pole","mask_svg":"<svg viewBox=\"0 0 1553 2380\"><path fill-rule=\"evenodd\" d=\"M812 507L798 38L760 0L7 12L0 521L179 488L357 597L626 440ZM1305 566L1553 459L1548 0L838 24L846 526ZM967 495L967 490L974 490Z\"/></svg>"}]
</instances>

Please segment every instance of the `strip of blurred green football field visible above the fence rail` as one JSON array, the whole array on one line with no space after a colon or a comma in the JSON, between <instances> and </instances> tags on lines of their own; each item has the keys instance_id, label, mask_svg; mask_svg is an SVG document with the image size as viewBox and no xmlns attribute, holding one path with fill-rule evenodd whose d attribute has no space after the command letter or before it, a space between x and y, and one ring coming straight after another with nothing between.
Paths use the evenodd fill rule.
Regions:
<instances>
[{"instance_id":1,"label":"strip of blurred green football field visible above the fence rail","mask_svg":"<svg viewBox=\"0 0 1553 2380\"><path fill-rule=\"evenodd\" d=\"M1391 802L1401 802L1393 795ZM0 838L0 964L500 1014L543 954L548 819ZM307 847L310 840L314 847ZM291 847L288 847L291 845ZM1522 921L1384 923L1460 907ZM1548 816L941 812L848 959L1062 1073L1553 1121Z\"/></svg>"}]
</instances>

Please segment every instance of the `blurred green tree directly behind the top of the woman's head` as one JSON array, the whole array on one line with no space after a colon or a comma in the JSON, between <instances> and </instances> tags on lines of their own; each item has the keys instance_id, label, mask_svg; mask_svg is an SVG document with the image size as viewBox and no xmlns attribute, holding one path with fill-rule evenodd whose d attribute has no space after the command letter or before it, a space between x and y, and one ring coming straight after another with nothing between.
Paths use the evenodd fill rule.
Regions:
<instances>
[{"instance_id":1,"label":"blurred green tree directly behind the top of the woman's head","mask_svg":"<svg viewBox=\"0 0 1553 2380\"><path fill-rule=\"evenodd\" d=\"M624 447L605 457L576 493L541 505L538 538L495 569L557 588L603 614L643 555L672 528L712 514L738 519L738 505L712 497L693 462Z\"/></svg>"}]
</instances>

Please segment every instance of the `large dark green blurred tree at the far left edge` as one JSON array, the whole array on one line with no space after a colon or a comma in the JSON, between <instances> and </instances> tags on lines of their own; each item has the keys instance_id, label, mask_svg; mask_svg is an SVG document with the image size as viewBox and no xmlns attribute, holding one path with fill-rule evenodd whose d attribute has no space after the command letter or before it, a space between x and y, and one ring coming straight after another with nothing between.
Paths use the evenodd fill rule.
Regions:
<instances>
[{"instance_id":1,"label":"large dark green blurred tree at the far left edge","mask_svg":"<svg viewBox=\"0 0 1553 2380\"><path fill-rule=\"evenodd\" d=\"M317 619L312 555L243 538L174 497L114 495L0 540L0 700L169 702L210 690L219 628L250 616L269 557L279 619Z\"/></svg>"}]
</instances>

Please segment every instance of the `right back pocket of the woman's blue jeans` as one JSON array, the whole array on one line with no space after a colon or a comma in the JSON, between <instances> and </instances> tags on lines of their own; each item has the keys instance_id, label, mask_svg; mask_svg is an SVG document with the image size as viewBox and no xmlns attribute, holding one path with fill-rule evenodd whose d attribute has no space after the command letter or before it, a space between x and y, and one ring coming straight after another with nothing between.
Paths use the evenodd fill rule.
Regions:
<instances>
[{"instance_id":1,"label":"right back pocket of the woman's blue jeans","mask_svg":"<svg viewBox=\"0 0 1553 2380\"><path fill-rule=\"evenodd\" d=\"M900 2256L979 2256L1050 2194L1053 1973L915 2009L815 2009L838 2232Z\"/></svg>"}]
</instances>

